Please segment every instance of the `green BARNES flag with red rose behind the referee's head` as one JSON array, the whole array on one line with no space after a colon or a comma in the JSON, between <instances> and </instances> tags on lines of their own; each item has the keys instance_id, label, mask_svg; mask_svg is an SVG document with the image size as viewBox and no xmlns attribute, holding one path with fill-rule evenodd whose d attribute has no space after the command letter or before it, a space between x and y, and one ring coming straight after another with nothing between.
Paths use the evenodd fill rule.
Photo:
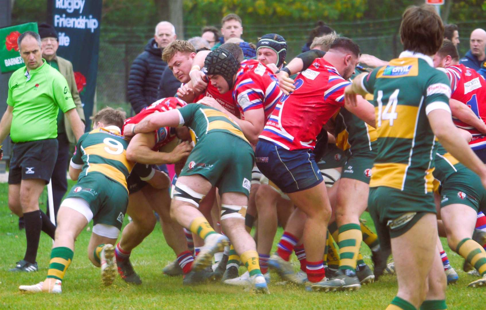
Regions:
<instances>
[{"instance_id":1,"label":"green BARNES flag with red rose behind the referee's head","mask_svg":"<svg viewBox=\"0 0 486 310\"><path fill-rule=\"evenodd\" d=\"M0 28L0 70L2 73L15 71L25 66L22 57L18 53L17 39L20 34L26 31L37 33L37 23Z\"/></svg>"}]
</instances>

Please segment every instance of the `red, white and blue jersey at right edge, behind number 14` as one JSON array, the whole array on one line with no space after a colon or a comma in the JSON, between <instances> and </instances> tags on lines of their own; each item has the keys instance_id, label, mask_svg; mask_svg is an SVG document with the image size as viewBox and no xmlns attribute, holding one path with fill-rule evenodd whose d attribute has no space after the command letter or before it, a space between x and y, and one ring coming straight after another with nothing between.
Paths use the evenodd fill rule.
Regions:
<instances>
[{"instance_id":1,"label":"red, white and blue jersey at right edge, behind number 14","mask_svg":"<svg viewBox=\"0 0 486 310\"><path fill-rule=\"evenodd\" d=\"M445 72L451 81L451 99L468 105L486 123L486 81L483 76L462 64L447 67ZM472 135L469 145L473 150L486 148L486 136L479 130L457 118L452 117L452 121Z\"/></svg>"}]
</instances>

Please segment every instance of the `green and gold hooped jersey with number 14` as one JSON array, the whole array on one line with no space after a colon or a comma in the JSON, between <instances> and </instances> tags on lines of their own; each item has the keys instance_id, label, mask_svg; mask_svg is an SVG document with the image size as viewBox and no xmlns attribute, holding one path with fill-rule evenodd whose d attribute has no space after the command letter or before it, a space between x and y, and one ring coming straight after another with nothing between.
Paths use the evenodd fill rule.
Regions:
<instances>
[{"instance_id":1,"label":"green and gold hooped jersey with number 14","mask_svg":"<svg viewBox=\"0 0 486 310\"><path fill-rule=\"evenodd\" d=\"M378 134L369 186L431 192L437 145L427 114L451 111L449 79L429 56L405 51L364 76L362 86L373 93Z\"/></svg>"}]
</instances>

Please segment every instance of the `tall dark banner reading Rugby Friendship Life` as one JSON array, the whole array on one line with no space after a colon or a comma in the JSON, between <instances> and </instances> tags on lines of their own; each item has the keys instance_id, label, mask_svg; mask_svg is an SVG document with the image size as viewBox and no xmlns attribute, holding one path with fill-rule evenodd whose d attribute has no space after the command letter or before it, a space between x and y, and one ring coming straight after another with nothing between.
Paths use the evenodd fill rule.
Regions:
<instances>
[{"instance_id":1,"label":"tall dark banner reading Rugby Friendship Life","mask_svg":"<svg viewBox=\"0 0 486 310\"><path fill-rule=\"evenodd\" d=\"M98 73L102 0L49 0L48 7L50 23L59 36L57 55L72 63L89 131Z\"/></svg>"}]
</instances>

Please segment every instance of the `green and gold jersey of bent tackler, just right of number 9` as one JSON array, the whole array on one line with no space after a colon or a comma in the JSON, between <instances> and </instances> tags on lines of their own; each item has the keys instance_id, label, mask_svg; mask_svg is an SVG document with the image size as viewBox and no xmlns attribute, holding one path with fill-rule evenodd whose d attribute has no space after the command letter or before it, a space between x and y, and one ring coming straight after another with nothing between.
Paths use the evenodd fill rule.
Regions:
<instances>
[{"instance_id":1,"label":"green and gold jersey of bent tackler, just right of number 9","mask_svg":"<svg viewBox=\"0 0 486 310\"><path fill-rule=\"evenodd\" d=\"M246 142L240 126L225 113L200 103L191 103L177 109L180 125L188 126L194 143L210 132L226 132ZM249 144L250 142L248 142Z\"/></svg>"}]
</instances>

